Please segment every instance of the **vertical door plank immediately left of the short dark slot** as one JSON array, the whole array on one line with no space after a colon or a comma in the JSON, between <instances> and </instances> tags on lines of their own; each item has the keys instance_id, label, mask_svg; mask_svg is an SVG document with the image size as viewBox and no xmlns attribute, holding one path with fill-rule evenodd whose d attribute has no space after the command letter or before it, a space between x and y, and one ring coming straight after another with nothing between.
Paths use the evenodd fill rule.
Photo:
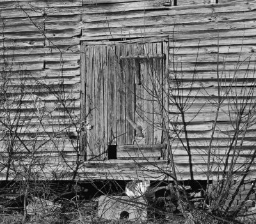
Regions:
<instances>
[{"instance_id":1,"label":"vertical door plank immediately left of the short dark slot","mask_svg":"<svg viewBox=\"0 0 256 224\"><path fill-rule=\"evenodd\" d=\"M125 56L134 56L134 46L127 45L125 47ZM135 104L135 60L125 60L125 114L126 114L126 144L134 144L135 128L134 123L134 104Z\"/></svg>"}]
</instances>

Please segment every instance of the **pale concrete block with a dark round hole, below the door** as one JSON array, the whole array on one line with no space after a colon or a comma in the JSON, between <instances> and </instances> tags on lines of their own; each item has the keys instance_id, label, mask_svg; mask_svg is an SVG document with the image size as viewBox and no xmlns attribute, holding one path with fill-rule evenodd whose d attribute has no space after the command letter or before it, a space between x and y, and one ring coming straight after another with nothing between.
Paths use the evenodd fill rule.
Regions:
<instances>
[{"instance_id":1,"label":"pale concrete block with a dark round hole, below the door","mask_svg":"<svg viewBox=\"0 0 256 224\"><path fill-rule=\"evenodd\" d=\"M99 198L98 216L106 220L147 220L147 202L144 198L128 196L101 196Z\"/></svg>"}]
</instances>

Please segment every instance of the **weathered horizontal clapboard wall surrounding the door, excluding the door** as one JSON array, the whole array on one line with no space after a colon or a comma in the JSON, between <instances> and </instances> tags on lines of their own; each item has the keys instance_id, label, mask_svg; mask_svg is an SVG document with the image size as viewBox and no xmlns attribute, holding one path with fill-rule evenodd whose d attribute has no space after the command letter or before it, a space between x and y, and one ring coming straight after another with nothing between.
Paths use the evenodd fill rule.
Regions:
<instances>
[{"instance_id":1,"label":"weathered horizontal clapboard wall surrounding the door, excluding the door","mask_svg":"<svg viewBox=\"0 0 256 224\"><path fill-rule=\"evenodd\" d=\"M207 141L211 138L216 111L216 107L209 103L209 99L218 96L217 64L222 75L232 77L236 73L237 86L243 87L244 74L250 78L248 82L252 82L248 84L246 81L246 84L253 85L256 51L255 9L256 3L253 0L219 0L218 4L212 4L212 1L207 0L177 0L177 6L172 6L166 1L152 0L4 0L0 2L1 51L4 52L1 54L1 63L3 67L7 57L9 61L12 59L12 86L19 85L20 79L17 79L16 74L22 65L22 70L28 73L26 83L30 83L31 88L40 88L33 90L33 95L29 95L26 101L28 105L24 105L24 111L28 109L29 103L36 109L35 97L38 96L40 102L44 103L44 108L49 108L44 130L54 134L58 128L60 129L60 123L62 127L68 127L73 121L70 121L69 113L63 114L63 110L60 109L62 106L59 105L60 99L56 98L56 94L47 86L52 85L56 92L63 87L65 94L61 96L67 97L71 102L68 107L72 109L72 116L79 117L82 41L95 41L95 44L99 44L100 41L108 40L135 41L133 39L141 38L143 41L145 37L158 37L160 40L163 36L169 36L170 75L172 77L174 70L182 75L182 94L190 94L193 99L189 101L186 119L189 121L188 136L193 146L191 153L194 178L205 179L206 162L202 154L207 154ZM220 63L216 63L218 58ZM241 62L239 66L237 61ZM191 88L193 74L196 78ZM37 82L45 86L42 87ZM230 79L226 82L223 85L228 86ZM204 91L200 87L204 87ZM173 89L175 90L175 86ZM251 104L253 105L253 101ZM216 154L222 156L226 150L227 132L232 132L232 125L227 122L230 118L227 114L228 107L227 101L221 108L218 129L215 132L216 136L223 136L223 142L216 143L220 144ZM177 122L179 116L175 116L175 113L177 114L177 108L170 102L170 114L174 114L173 121ZM33 142L29 135L36 130L37 117L34 116L35 121L29 121L29 126L24 131L28 146L29 141ZM232 118L231 114L232 119L234 117ZM76 135L74 126L72 128L68 132ZM52 165L52 170L61 171L61 166L56 168L56 165L62 164L63 160L67 161L63 168L76 165L76 138L70 138L65 131L63 135L65 136L58 138L58 141L54 139L60 147L49 141L44 147L40 147L42 153L39 150L36 152L39 160L44 158L45 164ZM41 138L38 139L45 140L45 136ZM5 144L4 140L1 144ZM40 145L40 141L36 144ZM251 126L246 135L245 149L250 151L254 144L255 127ZM173 142L173 150L181 178L190 179L186 151L177 141ZM250 153L248 151L244 151L244 158ZM4 158L3 150L2 156ZM6 161L3 159L2 163L6 164ZM163 162L159 161L159 164L161 163ZM145 167L147 166L154 169L150 163L146 163ZM127 161L106 161L104 165L94 161L81 168L81 175L79 174L78 178L83 179L84 172L86 177L93 178L111 174L111 177L118 179L122 178L119 176L120 172L132 178L138 175L138 172L132 171L132 167ZM44 167L39 166L38 170L42 168ZM3 172L1 175L4 179ZM157 172L152 175L155 178L159 176Z\"/></svg>"}]
</instances>

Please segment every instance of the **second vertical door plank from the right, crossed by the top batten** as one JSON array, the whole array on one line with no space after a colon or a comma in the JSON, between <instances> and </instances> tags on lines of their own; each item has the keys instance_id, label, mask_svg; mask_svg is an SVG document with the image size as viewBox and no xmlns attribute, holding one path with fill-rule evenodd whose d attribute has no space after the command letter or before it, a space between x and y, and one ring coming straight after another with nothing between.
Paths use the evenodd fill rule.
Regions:
<instances>
[{"instance_id":1,"label":"second vertical door plank from the right, crossed by the top batten","mask_svg":"<svg viewBox=\"0 0 256 224\"><path fill-rule=\"evenodd\" d=\"M152 43L145 43L146 56L152 55ZM153 91L152 91L153 67L152 59L145 59L145 143L153 144Z\"/></svg>"}]
</instances>

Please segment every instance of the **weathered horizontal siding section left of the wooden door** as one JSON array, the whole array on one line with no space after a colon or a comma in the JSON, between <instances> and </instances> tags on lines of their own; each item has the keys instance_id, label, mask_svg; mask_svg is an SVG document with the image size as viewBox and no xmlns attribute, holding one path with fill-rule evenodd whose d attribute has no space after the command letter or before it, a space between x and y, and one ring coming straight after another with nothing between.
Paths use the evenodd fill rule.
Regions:
<instances>
[{"instance_id":1,"label":"weathered horizontal siding section left of the wooden door","mask_svg":"<svg viewBox=\"0 0 256 224\"><path fill-rule=\"evenodd\" d=\"M40 178L59 178L52 174L61 174L77 159L72 123L80 119L81 14L63 11L81 6L81 0L0 1L1 84L3 70L12 70L6 91L16 98L9 98L11 105L1 103L1 119L12 117L18 124L12 133L21 138L9 140L11 147L0 125L1 179L8 169L19 174L15 178L26 178L29 165Z\"/></svg>"}]
</instances>

